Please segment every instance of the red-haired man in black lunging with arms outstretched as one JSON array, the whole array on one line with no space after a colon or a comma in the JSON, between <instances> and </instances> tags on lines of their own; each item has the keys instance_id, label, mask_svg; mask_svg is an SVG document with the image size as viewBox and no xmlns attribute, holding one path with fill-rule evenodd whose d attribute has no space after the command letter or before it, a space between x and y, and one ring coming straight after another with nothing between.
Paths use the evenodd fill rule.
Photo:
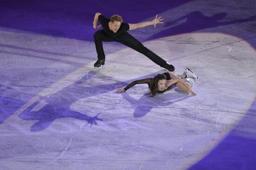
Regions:
<instances>
[{"instance_id":1,"label":"red-haired man in black lunging with arms outstretched","mask_svg":"<svg viewBox=\"0 0 256 170\"><path fill-rule=\"evenodd\" d=\"M143 46L141 42L135 39L131 34L127 33L128 30L143 28L145 26L154 25L155 27L156 24L162 24L162 20L163 19L161 19L161 17L157 17L156 15L155 19L152 21L137 24L127 24L123 23L120 15L113 15L110 19L108 19L101 13L95 13L93 27L94 29L99 29L102 26L103 29L94 33L94 43L98 54L98 60L94 64L94 67L100 67L101 65L105 64L105 53L103 50L102 41L116 41L144 54L155 62L155 64L166 68L170 72L173 72L175 70L173 65L168 64L164 59ZM101 23L101 25L97 26L98 21Z\"/></svg>"}]
</instances>

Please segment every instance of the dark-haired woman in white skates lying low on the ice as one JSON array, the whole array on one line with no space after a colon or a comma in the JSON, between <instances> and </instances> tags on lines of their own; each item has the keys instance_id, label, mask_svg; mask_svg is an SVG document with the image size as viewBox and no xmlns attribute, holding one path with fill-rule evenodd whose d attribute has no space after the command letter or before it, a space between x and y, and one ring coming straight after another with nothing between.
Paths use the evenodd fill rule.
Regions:
<instances>
[{"instance_id":1,"label":"dark-haired woman in white skates lying low on the ice","mask_svg":"<svg viewBox=\"0 0 256 170\"><path fill-rule=\"evenodd\" d=\"M189 68L187 68L183 74L175 75L172 72L164 72L162 74L157 74L154 78L135 80L125 88L117 89L116 91L125 92L134 85L148 84L150 96L154 97L156 92L165 92L169 86L175 85L188 95L191 93L195 96L195 92L193 92L191 89L191 84L194 83L195 79L197 79L197 76Z\"/></svg>"}]
</instances>

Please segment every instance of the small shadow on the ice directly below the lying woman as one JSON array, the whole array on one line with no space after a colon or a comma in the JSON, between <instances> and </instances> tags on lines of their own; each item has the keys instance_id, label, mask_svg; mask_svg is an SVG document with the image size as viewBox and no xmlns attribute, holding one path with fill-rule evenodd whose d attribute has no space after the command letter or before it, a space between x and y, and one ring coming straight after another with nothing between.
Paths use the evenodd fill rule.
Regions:
<instances>
[{"instance_id":1,"label":"small shadow on the ice directly below the lying woman","mask_svg":"<svg viewBox=\"0 0 256 170\"><path fill-rule=\"evenodd\" d=\"M127 100L132 107L134 107L134 118L145 116L152 108L164 107L192 97L191 95L188 96L186 93L158 94L157 96L159 97L153 98L149 97L148 94L144 94L140 99L136 100L130 97L126 92L121 94L123 98ZM171 101L166 101L166 98L170 98Z\"/></svg>"}]
</instances>

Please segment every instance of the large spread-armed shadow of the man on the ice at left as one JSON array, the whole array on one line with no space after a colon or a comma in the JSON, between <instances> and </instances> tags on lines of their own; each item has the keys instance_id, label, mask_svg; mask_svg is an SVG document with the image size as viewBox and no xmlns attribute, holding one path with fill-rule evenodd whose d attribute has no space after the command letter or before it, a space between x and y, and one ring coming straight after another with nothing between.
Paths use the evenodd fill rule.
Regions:
<instances>
[{"instance_id":1,"label":"large spread-armed shadow of the man on the ice at left","mask_svg":"<svg viewBox=\"0 0 256 170\"><path fill-rule=\"evenodd\" d=\"M81 98L88 98L98 94L113 91L127 85L127 82L116 82L113 84L82 86L90 78L96 75L97 71L88 72L87 75L77 80L73 84L63 88L61 91L54 93L50 97L38 99L33 105L20 113L19 117L24 120L36 120L37 122L31 126L31 131L42 131L49 127L57 118L76 118L85 120L88 124L97 124L97 114L94 117L87 116L77 111L71 111L70 106ZM150 74L150 76L154 75ZM149 75L146 75L149 76ZM143 76L144 77L144 76ZM92 111L93 112L93 111Z\"/></svg>"}]
</instances>

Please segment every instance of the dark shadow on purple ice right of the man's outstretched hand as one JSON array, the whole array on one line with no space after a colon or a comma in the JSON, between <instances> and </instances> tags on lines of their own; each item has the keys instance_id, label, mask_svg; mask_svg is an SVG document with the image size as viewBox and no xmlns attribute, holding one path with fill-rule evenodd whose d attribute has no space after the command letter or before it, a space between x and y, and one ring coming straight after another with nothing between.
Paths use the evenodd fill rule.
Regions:
<instances>
[{"instance_id":1,"label":"dark shadow on purple ice right of the man's outstretched hand","mask_svg":"<svg viewBox=\"0 0 256 170\"><path fill-rule=\"evenodd\" d=\"M254 21L256 19L256 15L240 20L231 20L231 21L221 21L225 19L227 13L216 13L212 16L206 16L200 11L194 11L187 15L182 16L173 21L166 22L164 27L171 26L166 30L163 30L160 33L156 33L155 35L151 36L149 39L156 39L161 37L167 37L176 34L182 33L192 33L197 30L202 30L205 28L213 28L217 26L225 26L230 24L240 24L247 21ZM182 20L186 20L182 22ZM182 22L182 23L181 23Z\"/></svg>"}]
</instances>

